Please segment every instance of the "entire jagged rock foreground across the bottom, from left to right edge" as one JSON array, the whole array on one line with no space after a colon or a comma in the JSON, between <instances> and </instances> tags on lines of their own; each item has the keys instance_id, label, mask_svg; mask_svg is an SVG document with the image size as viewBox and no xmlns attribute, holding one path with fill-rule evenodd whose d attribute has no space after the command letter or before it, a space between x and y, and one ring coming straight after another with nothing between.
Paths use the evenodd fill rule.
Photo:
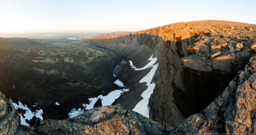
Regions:
<instances>
[{"instance_id":1,"label":"entire jagged rock foreground across the bottom, from left to right edge","mask_svg":"<svg viewBox=\"0 0 256 135\"><path fill-rule=\"evenodd\" d=\"M202 113L177 128L163 127L121 105L93 108L77 117L44 120L36 128L20 125L14 106L0 93L0 131L4 134L186 134L256 133L256 56L230 81L224 92Z\"/></svg>"}]
</instances>

